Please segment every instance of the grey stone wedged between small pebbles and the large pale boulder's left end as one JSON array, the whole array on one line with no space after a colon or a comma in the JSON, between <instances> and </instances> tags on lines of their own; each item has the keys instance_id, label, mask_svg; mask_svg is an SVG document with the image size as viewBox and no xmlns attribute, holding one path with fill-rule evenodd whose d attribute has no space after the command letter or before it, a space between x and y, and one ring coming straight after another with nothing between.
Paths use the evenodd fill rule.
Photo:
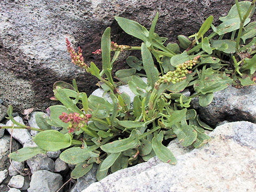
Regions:
<instances>
[{"instance_id":1,"label":"grey stone wedged between small pebbles and the large pale boulder's left end","mask_svg":"<svg viewBox=\"0 0 256 192\"><path fill-rule=\"evenodd\" d=\"M97 181L96 172L98 169L98 165L93 165L92 169L86 173L83 177L78 178L75 186L71 189L70 192L81 192L83 189L86 189L89 185Z\"/></svg>"}]
</instances>

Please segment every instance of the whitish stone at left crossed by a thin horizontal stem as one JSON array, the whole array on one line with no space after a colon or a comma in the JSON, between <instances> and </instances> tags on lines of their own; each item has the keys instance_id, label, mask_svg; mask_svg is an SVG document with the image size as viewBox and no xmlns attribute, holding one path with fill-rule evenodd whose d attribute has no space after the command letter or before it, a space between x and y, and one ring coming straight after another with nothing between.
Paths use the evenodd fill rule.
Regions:
<instances>
[{"instance_id":1,"label":"whitish stone at left crossed by a thin horizontal stem","mask_svg":"<svg viewBox=\"0 0 256 192\"><path fill-rule=\"evenodd\" d=\"M14 117L14 120L23 124L23 120L21 117L17 116ZM11 120L7 121L6 126L13 126L13 123ZM17 125L14 125L17 126ZM23 146L25 142L28 142L31 140L31 135L29 134L28 130L26 129L6 129L10 134L12 134L12 137L20 142L20 144Z\"/></svg>"}]
</instances>

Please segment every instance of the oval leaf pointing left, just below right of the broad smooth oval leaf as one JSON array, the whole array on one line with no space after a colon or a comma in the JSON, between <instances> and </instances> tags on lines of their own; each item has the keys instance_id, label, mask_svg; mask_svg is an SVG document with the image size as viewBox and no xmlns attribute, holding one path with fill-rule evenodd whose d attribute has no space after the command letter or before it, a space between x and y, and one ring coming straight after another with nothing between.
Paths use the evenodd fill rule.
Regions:
<instances>
[{"instance_id":1,"label":"oval leaf pointing left, just below right of the broad smooth oval leaf","mask_svg":"<svg viewBox=\"0 0 256 192\"><path fill-rule=\"evenodd\" d=\"M99 154L93 153L90 147L71 147L60 154L60 159L68 164L78 164L85 162L90 157L99 157Z\"/></svg>"}]
</instances>

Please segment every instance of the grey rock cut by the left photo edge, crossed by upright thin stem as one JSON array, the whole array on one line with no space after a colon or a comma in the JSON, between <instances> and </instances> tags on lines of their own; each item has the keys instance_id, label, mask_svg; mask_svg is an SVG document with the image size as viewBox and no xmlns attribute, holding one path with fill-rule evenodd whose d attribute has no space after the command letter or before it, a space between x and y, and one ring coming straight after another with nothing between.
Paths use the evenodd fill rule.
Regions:
<instances>
[{"instance_id":1,"label":"grey rock cut by the left photo edge, crossed by upright thin stem","mask_svg":"<svg viewBox=\"0 0 256 192\"><path fill-rule=\"evenodd\" d=\"M10 166L10 161L8 158L10 150L10 136L4 135L0 138L0 171L8 169ZM20 148L17 141L12 139L12 151L16 151Z\"/></svg>"}]
</instances>

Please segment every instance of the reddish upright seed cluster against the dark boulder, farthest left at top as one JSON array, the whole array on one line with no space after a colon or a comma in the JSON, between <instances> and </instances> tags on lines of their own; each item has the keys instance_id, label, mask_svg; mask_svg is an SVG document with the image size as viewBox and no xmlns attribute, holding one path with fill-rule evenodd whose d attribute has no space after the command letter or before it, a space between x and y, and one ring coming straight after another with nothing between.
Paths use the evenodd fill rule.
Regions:
<instances>
[{"instance_id":1,"label":"reddish upright seed cluster against the dark boulder, farthest left at top","mask_svg":"<svg viewBox=\"0 0 256 192\"><path fill-rule=\"evenodd\" d=\"M74 50L73 47L71 47L70 41L68 40L68 38L66 38L66 45L67 45L67 49L68 52L70 54L71 57L71 61L82 68L88 69L88 65L86 65L86 63L84 62L84 57L82 54L82 49L81 47L78 47L78 52L76 53L76 51Z\"/></svg>"}]
</instances>

